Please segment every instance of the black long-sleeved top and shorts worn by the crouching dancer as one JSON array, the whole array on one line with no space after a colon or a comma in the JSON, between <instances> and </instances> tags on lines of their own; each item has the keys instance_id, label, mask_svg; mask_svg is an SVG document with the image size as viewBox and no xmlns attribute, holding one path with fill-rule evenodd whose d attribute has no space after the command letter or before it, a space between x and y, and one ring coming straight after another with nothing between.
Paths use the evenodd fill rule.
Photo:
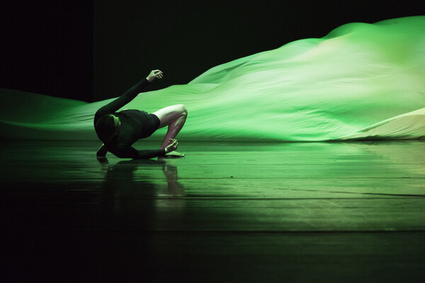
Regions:
<instances>
[{"instance_id":1,"label":"black long-sleeved top and shorts worn by the crouching dancer","mask_svg":"<svg viewBox=\"0 0 425 283\"><path fill-rule=\"evenodd\" d=\"M159 118L154 114L147 114L139 110L122 110L115 112L129 103L137 94L149 84L147 79L132 86L122 96L97 110L94 115L94 125L106 114L112 114L120 118L120 127L117 136L111 141L103 141L108 151L120 158L154 158L164 156L165 149L147 149L138 151L131 145L138 139L149 137L159 127Z\"/></svg>"}]
</instances>

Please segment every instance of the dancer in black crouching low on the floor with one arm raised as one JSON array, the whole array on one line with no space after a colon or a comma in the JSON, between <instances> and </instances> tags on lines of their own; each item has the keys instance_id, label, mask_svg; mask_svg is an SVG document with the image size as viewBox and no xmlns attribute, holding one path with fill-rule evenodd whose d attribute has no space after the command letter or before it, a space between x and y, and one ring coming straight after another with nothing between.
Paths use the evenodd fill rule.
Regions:
<instances>
[{"instance_id":1,"label":"dancer in black crouching low on the floor with one arm raised","mask_svg":"<svg viewBox=\"0 0 425 283\"><path fill-rule=\"evenodd\" d=\"M94 128L99 139L103 141L97 156L106 156L110 151L121 158L154 158L165 156L184 156L176 152L176 139L187 117L186 107L182 104L162 108L152 114L139 110L122 110L115 112L129 103L155 78L162 79L162 71L151 71L146 79L132 86L122 96L100 108L94 115ZM131 145L138 139L144 139L157 129L168 126L164 141L159 149L138 151Z\"/></svg>"}]
</instances>

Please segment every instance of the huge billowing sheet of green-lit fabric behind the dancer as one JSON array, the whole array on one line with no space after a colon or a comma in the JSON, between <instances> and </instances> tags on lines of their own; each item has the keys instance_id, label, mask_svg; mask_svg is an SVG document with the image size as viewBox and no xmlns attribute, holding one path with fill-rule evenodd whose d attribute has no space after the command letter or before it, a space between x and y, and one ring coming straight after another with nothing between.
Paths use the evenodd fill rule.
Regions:
<instances>
[{"instance_id":1,"label":"huge billowing sheet of green-lit fabric behind the dancer","mask_svg":"<svg viewBox=\"0 0 425 283\"><path fill-rule=\"evenodd\" d=\"M142 93L125 108L184 103L181 140L416 139L425 137L424 50L425 16L349 23ZM94 112L110 101L1 95L4 137L96 139Z\"/></svg>"}]
</instances>

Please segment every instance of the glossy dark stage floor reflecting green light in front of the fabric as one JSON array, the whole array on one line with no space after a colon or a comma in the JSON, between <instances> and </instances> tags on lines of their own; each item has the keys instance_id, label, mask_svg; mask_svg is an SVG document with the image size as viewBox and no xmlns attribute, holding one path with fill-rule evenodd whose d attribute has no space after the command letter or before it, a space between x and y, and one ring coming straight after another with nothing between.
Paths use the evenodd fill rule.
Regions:
<instances>
[{"instance_id":1,"label":"glossy dark stage floor reflecting green light in front of the fabric","mask_svg":"<svg viewBox=\"0 0 425 283\"><path fill-rule=\"evenodd\" d=\"M425 281L425 141L0 143L1 282Z\"/></svg>"}]
</instances>

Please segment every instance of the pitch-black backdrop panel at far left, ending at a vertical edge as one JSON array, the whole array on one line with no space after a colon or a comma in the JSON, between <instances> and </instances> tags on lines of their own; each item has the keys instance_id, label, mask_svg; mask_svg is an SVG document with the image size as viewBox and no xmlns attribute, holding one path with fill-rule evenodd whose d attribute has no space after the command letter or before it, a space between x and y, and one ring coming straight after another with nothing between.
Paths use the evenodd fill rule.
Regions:
<instances>
[{"instance_id":1,"label":"pitch-black backdrop panel at far left, ending at a vertical edge","mask_svg":"<svg viewBox=\"0 0 425 283\"><path fill-rule=\"evenodd\" d=\"M0 4L0 87L91 101L93 1Z\"/></svg>"}]
</instances>

